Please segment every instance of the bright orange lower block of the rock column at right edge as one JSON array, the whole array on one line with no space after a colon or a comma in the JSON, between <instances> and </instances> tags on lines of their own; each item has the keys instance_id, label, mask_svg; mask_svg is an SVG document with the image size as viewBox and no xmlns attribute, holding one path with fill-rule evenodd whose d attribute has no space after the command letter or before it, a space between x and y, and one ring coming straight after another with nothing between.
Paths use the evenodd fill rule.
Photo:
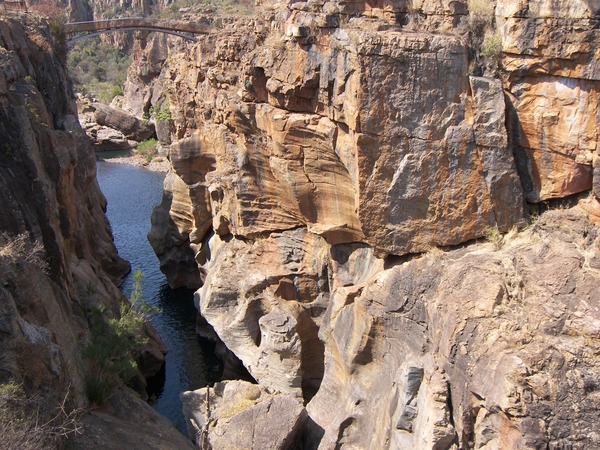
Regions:
<instances>
[{"instance_id":1,"label":"bright orange lower block of the rock column at right edge","mask_svg":"<svg viewBox=\"0 0 600 450\"><path fill-rule=\"evenodd\" d=\"M544 76L512 86L511 138L529 201L591 189L599 83Z\"/></svg>"}]
</instances>

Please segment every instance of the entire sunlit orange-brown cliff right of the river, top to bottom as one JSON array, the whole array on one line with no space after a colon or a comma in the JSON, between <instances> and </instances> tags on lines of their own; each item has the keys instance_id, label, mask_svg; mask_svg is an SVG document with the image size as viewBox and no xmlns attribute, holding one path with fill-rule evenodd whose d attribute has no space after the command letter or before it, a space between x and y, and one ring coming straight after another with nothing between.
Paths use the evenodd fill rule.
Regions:
<instances>
[{"instance_id":1,"label":"entire sunlit orange-brown cliff right of the river, top to bottom","mask_svg":"<svg viewBox=\"0 0 600 450\"><path fill-rule=\"evenodd\" d=\"M172 171L149 239L258 383L305 403L308 448L598 445L585 213L439 250L500 246L525 201L595 186L597 211L600 5L492 6L263 2L154 41Z\"/></svg>"}]
</instances>

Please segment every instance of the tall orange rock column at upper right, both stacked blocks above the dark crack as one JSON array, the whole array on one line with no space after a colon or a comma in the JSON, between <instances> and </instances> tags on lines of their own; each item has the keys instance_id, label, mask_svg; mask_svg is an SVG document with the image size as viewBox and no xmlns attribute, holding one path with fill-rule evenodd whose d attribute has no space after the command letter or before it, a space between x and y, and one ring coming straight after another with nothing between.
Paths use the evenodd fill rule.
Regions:
<instances>
[{"instance_id":1,"label":"tall orange rock column at upper right, both stacked blocks above the dark crack","mask_svg":"<svg viewBox=\"0 0 600 450\"><path fill-rule=\"evenodd\" d=\"M598 147L598 6L498 1L508 130L528 201L592 186Z\"/></svg>"}]
</instances>

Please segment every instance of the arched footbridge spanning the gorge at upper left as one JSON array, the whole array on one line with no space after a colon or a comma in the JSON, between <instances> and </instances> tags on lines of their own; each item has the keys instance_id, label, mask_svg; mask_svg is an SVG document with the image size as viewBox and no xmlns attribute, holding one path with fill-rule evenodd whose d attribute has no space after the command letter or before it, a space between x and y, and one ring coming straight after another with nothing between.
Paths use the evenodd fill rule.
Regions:
<instances>
[{"instance_id":1,"label":"arched footbridge spanning the gorge at upper left","mask_svg":"<svg viewBox=\"0 0 600 450\"><path fill-rule=\"evenodd\" d=\"M210 27L195 22L183 22L178 20L146 19L140 17L126 17L122 19L95 20L92 22L72 22L64 25L69 34L85 33L67 41L70 47L75 42L115 31L157 31L172 34L183 39L197 42L195 34L208 34Z\"/></svg>"}]
</instances>

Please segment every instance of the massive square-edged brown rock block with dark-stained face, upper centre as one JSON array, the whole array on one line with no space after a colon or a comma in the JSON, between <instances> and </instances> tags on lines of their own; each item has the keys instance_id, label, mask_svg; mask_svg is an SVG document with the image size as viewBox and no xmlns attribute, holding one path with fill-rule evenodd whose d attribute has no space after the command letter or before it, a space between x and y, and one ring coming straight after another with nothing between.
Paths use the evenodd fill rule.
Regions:
<instances>
[{"instance_id":1,"label":"massive square-edged brown rock block with dark-stained face, upper centre","mask_svg":"<svg viewBox=\"0 0 600 450\"><path fill-rule=\"evenodd\" d=\"M177 191L199 201L173 193L157 211L177 225L152 232L165 270L181 239L197 253L210 218L220 236L305 226L379 255L522 223L502 89L466 75L459 39L336 28L257 48L257 27L208 36L166 69Z\"/></svg>"}]
</instances>

